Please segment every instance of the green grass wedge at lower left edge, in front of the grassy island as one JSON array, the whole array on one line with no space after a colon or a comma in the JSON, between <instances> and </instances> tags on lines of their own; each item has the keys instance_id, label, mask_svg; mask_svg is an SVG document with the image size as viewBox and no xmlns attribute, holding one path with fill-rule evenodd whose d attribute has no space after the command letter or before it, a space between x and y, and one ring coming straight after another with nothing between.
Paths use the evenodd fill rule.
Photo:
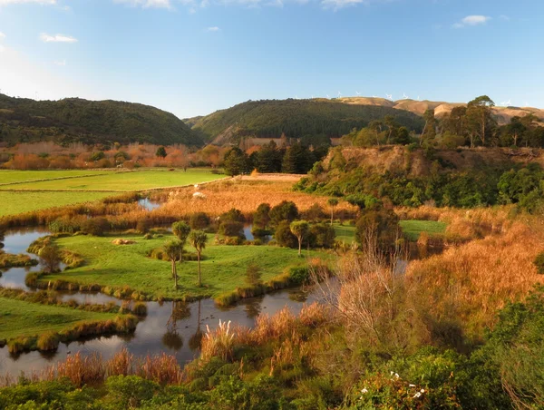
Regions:
<instances>
[{"instance_id":1,"label":"green grass wedge at lower left edge, in front of the grassy island","mask_svg":"<svg viewBox=\"0 0 544 410\"><path fill-rule=\"evenodd\" d=\"M69 307L39 305L11 298L0 298L0 339L34 336L60 331L83 320L108 320L110 313L95 313Z\"/></svg>"}]
</instances>

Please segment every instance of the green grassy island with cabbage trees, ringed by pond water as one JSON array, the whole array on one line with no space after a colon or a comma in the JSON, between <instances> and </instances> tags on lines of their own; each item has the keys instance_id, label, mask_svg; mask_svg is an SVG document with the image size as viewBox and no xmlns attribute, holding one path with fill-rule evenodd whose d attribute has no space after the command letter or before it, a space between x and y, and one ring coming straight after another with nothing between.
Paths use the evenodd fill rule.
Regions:
<instances>
[{"instance_id":1,"label":"green grassy island with cabbage trees, ringed by pond water","mask_svg":"<svg viewBox=\"0 0 544 410\"><path fill-rule=\"evenodd\" d=\"M46 279L63 279L111 288L128 286L156 298L183 298L184 295L216 297L245 284L249 263L254 262L262 269L262 279L265 281L282 273L289 266L306 264L306 259L297 257L296 249L213 245L214 236L209 235L209 245L203 252L205 259L202 261L204 287L197 287L197 262L185 261L178 266L180 288L176 292L171 278L170 262L146 256L147 251L160 248L171 237L145 240L141 236L123 236L123 239L137 242L126 246L113 245L112 239L115 238L120 237L75 236L57 239L59 246L82 255L86 263L83 267L47 276ZM194 251L189 246L186 249ZM329 254L318 251L311 251L309 256L331 258Z\"/></svg>"}]
</instances>

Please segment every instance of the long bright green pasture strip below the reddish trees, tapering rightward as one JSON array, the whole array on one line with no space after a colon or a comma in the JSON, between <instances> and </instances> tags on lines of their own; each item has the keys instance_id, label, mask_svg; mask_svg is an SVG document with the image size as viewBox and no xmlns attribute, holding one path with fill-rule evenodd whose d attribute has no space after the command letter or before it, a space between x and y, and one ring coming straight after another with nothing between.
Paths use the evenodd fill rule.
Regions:
<instances>
[{"instance_id":1,"label":"long bright green pasture strip below the reddish trees, tapering rightward","mask_svg":"<svg viewBox=\"0 0 544 410\"><path fill-rule=\"evenodd\" d=\"M0 183L3 181L2 171L0 171ZM25 171L19 171L25 172ZM30 171L29 171L30 172ZM40 171L34 171L40 172ZM59 171L58 174L52 174L50 171L44 171L45 179L59 178L63 176L63 172L68 172L66 176L71 176L72 171ZM89 171L86 171L89 174ZM54 175L57 175L56 177ZM212 174L209 170L188 170L184 171L167 171L167 170L150 170L150 171L133 171L133 172L101 172L96 175L69 178L65 180L37 181L25 182L16 185L0 186L0 190L115 190L115 191L131 191L131 190L150 190L152 188L168 188L193 183L201 183L215 181L223 178L224 175ZM14 176L12 178L26 178L24 174ZM33 174L32 177L39 178L39 174Z\"/></svg>"}]
</instances>

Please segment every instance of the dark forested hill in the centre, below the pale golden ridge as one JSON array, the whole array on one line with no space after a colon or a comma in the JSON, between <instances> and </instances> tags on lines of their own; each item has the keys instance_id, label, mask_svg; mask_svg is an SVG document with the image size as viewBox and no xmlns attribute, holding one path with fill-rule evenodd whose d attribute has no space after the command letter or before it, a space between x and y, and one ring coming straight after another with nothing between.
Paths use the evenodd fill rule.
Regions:
<instances>
[{"instance_id":1,"label":"dark forested hill in the centre, below the pale golden ridge","mask_svg":"<svg viewBox=\"0 0 544 410\"><path fill-rule=\"evenodd\" d=\"M413 112L325 99L249 101L186 122L194 123L193 130L204 138L221 144L239 136L279 138L282 133L289 138L341 137L386 115L409 130L423 129L423 119Z\"/></svg>"}]
</instances>

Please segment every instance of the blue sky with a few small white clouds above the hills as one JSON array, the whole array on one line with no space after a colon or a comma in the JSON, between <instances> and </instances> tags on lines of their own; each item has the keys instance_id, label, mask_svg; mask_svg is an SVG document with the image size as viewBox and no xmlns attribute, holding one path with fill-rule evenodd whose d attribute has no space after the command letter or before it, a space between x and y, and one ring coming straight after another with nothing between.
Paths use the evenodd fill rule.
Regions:
<instances>
[{"instance_id":1,"label":"blue sky with a few small white clouds above the hills","mask_svg":"<svg viewBox=\"0 0 544 410\"><path fill-rule=\"evenodd\" d=\"M0 89L142 102L393 94L544 107L541 0L0 0Z\"/></svg>"}]
</instances>

